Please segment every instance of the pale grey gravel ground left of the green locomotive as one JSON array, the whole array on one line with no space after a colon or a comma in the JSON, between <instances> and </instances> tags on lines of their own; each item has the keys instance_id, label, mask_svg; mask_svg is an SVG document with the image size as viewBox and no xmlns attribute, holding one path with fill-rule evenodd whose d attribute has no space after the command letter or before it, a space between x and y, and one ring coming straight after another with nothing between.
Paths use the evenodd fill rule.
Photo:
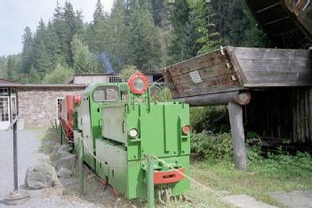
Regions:
<instances>
[{"instance_id":1,"label":"pale grey gravel ground left of the green locomotive","mask_svg":"<svg viewBox=\"0 0 312 208\"><path fill-rule=\"evenodd\" d=\"M43 138L48 140L43 142ZM40 148L53 139L48 130L18 130L18 168L19 188L25 190L24 180L27 169L37 161L50 161L49 154L41 153ZM55 139L55 138L54 138ZM44 148L42 148L44 150ZM2 203L5 195L13 190L13 158L12 131L0 131L0 208L8 207L136 207L123 197L113 196L112 188L104 188L92 175L84 180L85 195L78 194L78 175L74 171L71 179L59 179L59 184L53 188L26 190L30 196L28 202L17 206L7 206ZM135 203L134 203L135 204Z\"/></svg>"}]
</instances>

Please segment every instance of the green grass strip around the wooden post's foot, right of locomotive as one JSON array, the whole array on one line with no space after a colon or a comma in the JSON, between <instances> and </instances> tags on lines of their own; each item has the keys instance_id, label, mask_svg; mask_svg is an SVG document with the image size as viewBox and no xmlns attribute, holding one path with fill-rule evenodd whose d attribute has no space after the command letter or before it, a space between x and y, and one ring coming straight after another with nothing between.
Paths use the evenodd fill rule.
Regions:
<instances>
[{"instance_id":1,"label":"green grass strip around the wooden post's foot, right of locomotive","mask_svg":"<svg viewBox=\"0 0 312 208\"><path fill-rule=\"evenodd\" d=\"M191 165L191 176L199 182L228 195L245 194L268 204L283 207L271 192L312 188L312 159L308 154L271 155L249 159L248 170L236 171L227 160L206 160Z\"/></svg>"}]
</instances>

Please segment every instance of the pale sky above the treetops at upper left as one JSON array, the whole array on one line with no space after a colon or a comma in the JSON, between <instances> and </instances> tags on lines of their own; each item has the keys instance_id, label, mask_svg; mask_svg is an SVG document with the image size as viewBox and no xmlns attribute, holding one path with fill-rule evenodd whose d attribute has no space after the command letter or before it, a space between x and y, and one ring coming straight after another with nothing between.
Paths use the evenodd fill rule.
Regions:
<instances>
[{"instance_id":1,"label":"pale sky above the treetops at upper left","mask_svg":"<svg viewBox=\"0 0 312 208\"><path fill-rule=\"evenodd\" d=\"M84 20L91 21L97 0L59 0L83 11ZM114 0L101 0L109 12ZM38 21L51 19L57 0L0 0L0 56L21 52L21 36L27 26L36 30Z\"/></svg>"}]
</instances>

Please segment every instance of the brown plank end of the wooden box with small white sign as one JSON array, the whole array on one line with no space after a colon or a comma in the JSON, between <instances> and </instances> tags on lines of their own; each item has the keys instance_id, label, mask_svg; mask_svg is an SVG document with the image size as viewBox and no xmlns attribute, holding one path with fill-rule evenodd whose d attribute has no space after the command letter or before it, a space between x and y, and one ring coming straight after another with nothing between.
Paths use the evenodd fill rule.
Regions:
<instances>
[{"instance_id":1,"label":"brown plank end of the wooden box with small white sign","mask_svg":"<svg viewBox=\"0 0 312 208\"><path fill-rule=\"evenodd\" d=\"M220 50L164 68L164 79L174 98L241 89L240 77Z\"/></svg>"}]
</instances>

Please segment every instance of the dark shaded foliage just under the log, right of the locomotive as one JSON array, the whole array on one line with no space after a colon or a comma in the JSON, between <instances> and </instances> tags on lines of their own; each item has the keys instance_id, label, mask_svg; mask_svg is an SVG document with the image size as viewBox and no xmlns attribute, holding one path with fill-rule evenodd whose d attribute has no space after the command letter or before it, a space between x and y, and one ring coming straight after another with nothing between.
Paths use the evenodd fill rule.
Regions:
<instances>
[{"instance_id":1,"label":"dark shaded foliage just under the log, right of the locomotive","mask_svg":"<svg viewBox=\"0 0 312 208\"><path fill-rule=\"evenodd\" d=\"M228 110L225 106L190 108L190 125L196 132L229 132Z\"/></svg>"}]
</instances>

